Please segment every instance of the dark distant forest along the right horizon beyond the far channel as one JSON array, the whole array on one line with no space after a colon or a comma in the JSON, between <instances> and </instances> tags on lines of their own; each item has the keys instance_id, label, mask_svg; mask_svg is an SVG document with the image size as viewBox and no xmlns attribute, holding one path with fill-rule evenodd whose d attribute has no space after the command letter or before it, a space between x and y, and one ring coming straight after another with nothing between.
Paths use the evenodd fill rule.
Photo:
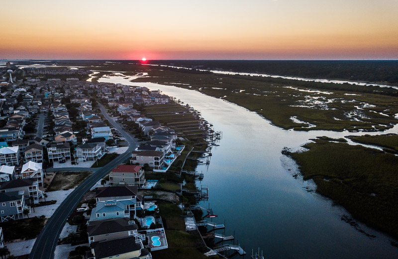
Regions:
<instances>
[{"instance_id":1,"label":"dark distant forest along the right horizon beyond the far channel","mask_svg":"<svg viewBox=\"0 0 398 259\"><path fill-rule=\"evenodd\" d=\"M398 83L398 61L154 60L150 64L316 79Z\"/></svg>"}]
</instances>

